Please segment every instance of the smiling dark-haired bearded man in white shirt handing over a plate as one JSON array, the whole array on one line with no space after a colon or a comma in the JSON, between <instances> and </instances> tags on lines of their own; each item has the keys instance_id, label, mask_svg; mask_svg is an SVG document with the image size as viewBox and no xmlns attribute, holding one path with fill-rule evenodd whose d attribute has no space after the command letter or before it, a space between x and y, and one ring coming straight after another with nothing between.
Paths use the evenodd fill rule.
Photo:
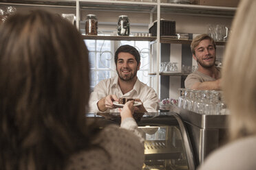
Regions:
<instances>
[{"instance_id":1,"label":"smiling dark-haired bearded man in white shirt handing over a plate","mask_svg":"<svg viewBox=\"0 0 256 170\"><path fill-rule=\"evenodd\" d=\"M130 45L120 46L115 53L116 77L100 81L89 100L89 112L119 112L113 102L132 98L142 104L136 112L157 112L158 96L153 88L138 80L140 53Z\"/></svg>"}]
</instances>

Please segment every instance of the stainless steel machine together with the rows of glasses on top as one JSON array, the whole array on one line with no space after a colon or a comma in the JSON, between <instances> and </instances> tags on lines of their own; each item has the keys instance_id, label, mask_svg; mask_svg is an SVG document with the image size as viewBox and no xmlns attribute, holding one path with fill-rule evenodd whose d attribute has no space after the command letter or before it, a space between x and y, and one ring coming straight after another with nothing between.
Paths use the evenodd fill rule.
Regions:
<instances>
[{"instance_id":1,"label":"stainless steel machine together with the rows of glasses on top","mask_svg":"<svg viewBox=\"0 0 256 170\"><path fill-rule=\"evenodd\" d=\"M195 148L195 165L221 147L227 140L229 117L222 91L180 88L175 112L180 114ZM175 106L173 106L175 107Z\"/></svg>"}]
</instances>

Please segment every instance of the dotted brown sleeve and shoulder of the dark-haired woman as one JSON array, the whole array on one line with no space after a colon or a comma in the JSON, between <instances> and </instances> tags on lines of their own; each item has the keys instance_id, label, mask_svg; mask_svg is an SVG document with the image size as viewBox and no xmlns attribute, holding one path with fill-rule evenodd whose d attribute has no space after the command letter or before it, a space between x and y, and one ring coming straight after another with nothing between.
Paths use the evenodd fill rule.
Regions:
<instances>
[{"instance_id":1,"label":"dotted brown sleeve and shoulder of the dark-haired woman","mask_svg":"<svg viewBox=\"0 0 256 170\"><path fill-rule=\"evenodd\" d=\"M138 137L117 125L107 125L93 141L96 146L80 151L70 159L67 170L141 169L144 147Z\"/></svg>"}]
</instances>

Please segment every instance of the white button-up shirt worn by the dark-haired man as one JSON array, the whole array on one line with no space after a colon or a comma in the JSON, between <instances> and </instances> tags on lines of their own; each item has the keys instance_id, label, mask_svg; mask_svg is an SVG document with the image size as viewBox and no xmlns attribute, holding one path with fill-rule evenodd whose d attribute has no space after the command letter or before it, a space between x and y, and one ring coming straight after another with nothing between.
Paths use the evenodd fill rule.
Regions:
<instances>
[{"instance_id":1,"label":"white button-up shirt worn by the dark-haired man","mask_svg":"<svg viewBox=\"0 0 256 170\"><path fill-rule=\"evenodd\" d=\"M116 95L118 98L126 97L140 99L147 112L157 112L159 108L158 96L153 88L140 82L140 80L137 78L134 88L128 93L122 94L122 90L118 85L118 76L116 76L102 80L94 87L94 91L91 93L89 99L89 112L100 112L100 110L98 110L97 103L100 99L106 97L107 95ZM119 111L118 108L116 108L111 110L107 109L105 112Z\"/></svg>"}]
</instances>

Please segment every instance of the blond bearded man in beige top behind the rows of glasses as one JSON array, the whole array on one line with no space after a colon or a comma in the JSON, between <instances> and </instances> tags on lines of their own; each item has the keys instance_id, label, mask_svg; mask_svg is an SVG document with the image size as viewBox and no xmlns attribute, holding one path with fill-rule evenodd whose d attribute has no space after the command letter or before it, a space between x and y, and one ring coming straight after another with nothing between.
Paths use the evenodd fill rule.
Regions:
<instances>
[{"instance_id":1,"label":"blond bearded man in beige top behind the rows of glasses","mask_svg":"<svg viewBox=\"0 0 256 170\"><path fill-rule=\"evenodd\" d=\"M198 70L189 74L185 88L195 90L220 90L220 70L215 66L216 45L207 34L196 36L191 42L193 59L198 62Z\"/></svg>"}]
</instances>

